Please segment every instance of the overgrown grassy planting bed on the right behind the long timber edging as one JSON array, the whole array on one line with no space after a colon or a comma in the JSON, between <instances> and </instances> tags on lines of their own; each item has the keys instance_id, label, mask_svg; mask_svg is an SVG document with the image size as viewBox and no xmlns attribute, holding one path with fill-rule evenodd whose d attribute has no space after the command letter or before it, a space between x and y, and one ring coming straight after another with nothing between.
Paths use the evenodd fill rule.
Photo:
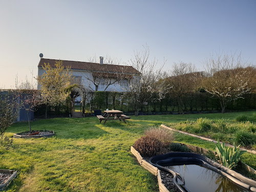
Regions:
<instances>
[{"instance_id":1,"label":"overgrown grassy planting bed on the right behind the long timber edging","mask_svg":"<svg viewBox=\"0 0 256 192\"><path fill-rule=\"evenodd\" d=\"M242 146L256 150L255 113L247 113L247 115L238 115L229 118L225 116L229 117L229 115L223 115L221 118L213 118L209 115L208 117L200 117L196 120L187 119L179 123L169 122L167 125L177 130L210 137L215 140L219 139L229 144L241 144ZM241 117L246 119L246 121L241 121Z\"/></svg>"}]
</instances>

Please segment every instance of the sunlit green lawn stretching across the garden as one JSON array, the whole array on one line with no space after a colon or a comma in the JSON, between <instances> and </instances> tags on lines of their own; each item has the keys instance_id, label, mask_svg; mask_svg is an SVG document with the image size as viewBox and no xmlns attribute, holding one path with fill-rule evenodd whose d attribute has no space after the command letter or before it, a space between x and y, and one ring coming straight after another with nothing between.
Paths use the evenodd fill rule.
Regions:
<instances>
[{"instance_id":1,"label":"sunlit green lawn stretching across the garden","mask_svg":"<svg viewBox=\"0 0 256 192\"><path fill-rule=\"evenodd\" d=\"M53 130L56 136L14 139L9 151L0 151L0 168L19 171L7 191L158 191L156 178L130 152L148 126L200 117L233 120L252 113L132 116L127 124L107 121L105 125L96 117L36 120L32 130ZM27 122L15 123L6 135L28 130ZM215 148L207 141L175 135L179 142ZM256 155L246 153L243 161L256 168Z\"/></svg>"}]
</instances>

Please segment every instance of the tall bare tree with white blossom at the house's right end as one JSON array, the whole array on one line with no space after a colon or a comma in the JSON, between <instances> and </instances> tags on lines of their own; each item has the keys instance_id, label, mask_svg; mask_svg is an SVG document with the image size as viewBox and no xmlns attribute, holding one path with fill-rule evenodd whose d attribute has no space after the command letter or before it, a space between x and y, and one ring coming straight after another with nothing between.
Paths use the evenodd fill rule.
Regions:
<instances>
[{"instance_id":1,"label":"tall bare tree with white blossom at the house's right end","mask_svg":"<svg viewBox=\"0 0 256 192\"><path fill-rule=\"evenodd\" d=\"M149 56L150 49L148 46L143 46L143 50L135 51L134 57L126 63L126 65L134 67L140 73L131 79L127 79L124 93L131 99L136 116L138 116L143 103L152 99L153 93L162 96L159 86L157 86L157 80L160 77L164 63L160 69L156 69L157 61L155 59L149 61Z\"/></svg>"}]
</instances>

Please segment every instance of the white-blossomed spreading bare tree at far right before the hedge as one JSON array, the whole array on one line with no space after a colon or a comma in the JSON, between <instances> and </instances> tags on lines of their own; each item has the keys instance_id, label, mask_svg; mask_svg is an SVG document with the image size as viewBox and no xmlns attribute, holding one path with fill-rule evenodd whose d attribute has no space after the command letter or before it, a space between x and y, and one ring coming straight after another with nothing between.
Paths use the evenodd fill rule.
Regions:
<instances>
[{"instance_id":1,"label":"white-blossomed spreading bare tree at far right before the hedge","mask_svg":"<svg viewBox=\"0 0 256 192\"><path fill-rule=\"evenodd\" d=\"M243 98L250 92L251 70L241 58L241 53L212 55L204 62L207 77L203 80L205 91L219 99L222 113L227 102ZM254 77L255 78L255 77Z\"/></svg>"}]
</instances>

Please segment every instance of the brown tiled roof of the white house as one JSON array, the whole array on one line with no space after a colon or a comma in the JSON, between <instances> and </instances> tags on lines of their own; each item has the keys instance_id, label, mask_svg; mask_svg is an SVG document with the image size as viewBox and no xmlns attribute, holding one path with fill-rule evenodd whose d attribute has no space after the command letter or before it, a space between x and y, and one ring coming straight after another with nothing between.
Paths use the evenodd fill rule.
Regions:
<instances>
[{"instance_id":1,"label":"brown tiled roof of the white house","mask_svg":"<svg viewBox=\"0 0 256 192\"><path fill-rule=\"evenodd\" d=\"M41 58L38 63L38 68L44 66L44 63L49 63L51 67L55 67L55 63L58 59L46 59ZM140 74L132 66L118 66L110 64L99 64L94 62L82 62L82 61L71 61L62 60L62 64L65 68L70 67L71 70L82 70L82 71L92 71L92 72L105 72L105 73L122 73L122 74Z\"/></svg>"}]
</instances>

